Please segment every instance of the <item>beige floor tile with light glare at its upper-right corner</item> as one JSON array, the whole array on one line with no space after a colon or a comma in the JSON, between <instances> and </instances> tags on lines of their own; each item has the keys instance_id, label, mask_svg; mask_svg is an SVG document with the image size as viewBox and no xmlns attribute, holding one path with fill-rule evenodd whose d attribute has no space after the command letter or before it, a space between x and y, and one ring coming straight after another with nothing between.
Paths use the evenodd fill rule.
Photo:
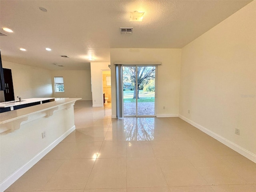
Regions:
<instances>
[{"instance_id":1,"label":"beige floor tile with light glare at its upper-right corner","mask_svg":"<svg viewBox=\"0 0 256 192\"><path fill-rule=\"evenodd\" d=\"M94 161L92 159L65 160L45 185L44 190L84 189Z\"/></svg>"}]
</instances>

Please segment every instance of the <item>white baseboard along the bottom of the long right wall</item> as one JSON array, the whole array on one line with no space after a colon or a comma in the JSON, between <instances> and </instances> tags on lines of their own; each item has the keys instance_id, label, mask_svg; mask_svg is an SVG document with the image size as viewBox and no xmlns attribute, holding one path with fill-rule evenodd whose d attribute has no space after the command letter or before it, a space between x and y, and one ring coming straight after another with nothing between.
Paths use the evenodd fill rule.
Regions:
<instances>
[{"instance_id":1,"label":"white baseboard along the bottom of the long right wall","mask_svg":"<svg viewBox=\"0 0 256 192\"><path fill-rule=\"evenodd\" d=\"M247 151L246 149L238 146L237 144L227 140L226 138L212 132L211 130L208 130L207 128L197 124L196 122L182 116L179 115L179 118L181 118L182 120L188 122L189 124L193 125L194 127L198 128L199 130L201 130L202 132L208 134L209 136L213 137L214 139L218 140L219 142L223 143L224 145L228 146L229 148L233 149L234 151L240 153L242 156L245 156L246 158L250 159L251 161L253 161L254 163L256 163L256 154L253 154L249 151Z\"/></svg>"}]
</instances>

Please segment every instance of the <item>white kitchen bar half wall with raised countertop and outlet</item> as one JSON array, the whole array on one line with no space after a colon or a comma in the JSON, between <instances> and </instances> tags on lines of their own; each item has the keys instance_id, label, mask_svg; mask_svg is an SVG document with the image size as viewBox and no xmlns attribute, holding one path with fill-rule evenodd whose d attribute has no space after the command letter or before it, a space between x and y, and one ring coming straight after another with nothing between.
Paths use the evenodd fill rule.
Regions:
<instances>
[{"instance_id":1,"label":"white kitchen bar half wall with raised countertop and outlet","mask_svg":"<svg viewBox=\"0 0 256 192\"><path fill-rule=\"evenodd\" d=\"M75 130L73 106L80 99L55 99L0 114L1 192Z\"/></svg>"}]
</instances>

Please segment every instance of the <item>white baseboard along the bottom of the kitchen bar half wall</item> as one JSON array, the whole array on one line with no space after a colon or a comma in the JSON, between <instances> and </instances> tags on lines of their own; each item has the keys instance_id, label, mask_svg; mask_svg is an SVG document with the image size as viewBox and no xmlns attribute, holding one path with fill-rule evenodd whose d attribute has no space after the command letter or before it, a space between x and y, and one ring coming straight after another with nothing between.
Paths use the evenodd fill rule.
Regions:
<instances>
[{"instance_id":1,"label":"white baseboard along the bottom of the kitchen bar half wall","mask_svg":"<svg viewBox=\"0 0 256 192\"><path fill-rule=\"evenodd\" d=\"M56 139L52 144L50 144L48 147L46 147L44 150L42 150L40 153L38 153L34 158L32 158L29 162L27 162L24 166L22 166L20 169L16 170L12 175L10 175L8 178L6 178L1 184L0 184L0 192L3 192L8 187L10 187L18 178L20 178L24 173L26 173L32 166L34 166L40 159L42 159L50 150L52 150L57 144L59 144L66 136L68 136L72 131L76 129L76 126L73 126L69 130L67 130L62 136L60 136L58 139Z\"/></svg>"}]
</instances>

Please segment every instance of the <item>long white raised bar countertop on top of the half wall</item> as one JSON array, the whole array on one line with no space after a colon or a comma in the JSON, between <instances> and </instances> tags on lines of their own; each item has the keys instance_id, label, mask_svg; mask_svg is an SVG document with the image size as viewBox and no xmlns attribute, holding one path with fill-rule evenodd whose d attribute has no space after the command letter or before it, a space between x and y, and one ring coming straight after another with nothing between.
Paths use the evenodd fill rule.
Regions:
<instances>
[{"instance_id":1,"label":"long white raised bar countertop on top of the half wall","mask_svg":"<svg viewBox=\"0 0 256 192\"><path fill-rule=\"evenodd\" d=\"M50 99L50 98L48 98L48 99ZM5 123L11 122L13 120L17 120L17 119L27 117L32 114L36 114L38 112L56 108L63 104L72 103L72 102L75 102L80 99L82 99L82 98L61 98L61 99L58 98L56 101L0 113L0 124L5 124Z\"/></svg>"}]
</instances>

